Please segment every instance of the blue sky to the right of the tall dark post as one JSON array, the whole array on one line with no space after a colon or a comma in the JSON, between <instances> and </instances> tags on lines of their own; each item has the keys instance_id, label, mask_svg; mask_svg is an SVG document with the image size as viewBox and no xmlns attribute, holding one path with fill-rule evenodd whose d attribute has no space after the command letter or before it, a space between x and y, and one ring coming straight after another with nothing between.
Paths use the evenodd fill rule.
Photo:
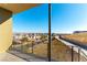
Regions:
<instances>
[{"instance_id":1,"label":"blue sky to the right of the tall dark post","mask_svg":"<svg viewBox=\"0 0 87 65\"><path fill-rule=\"evenodd\" d=\"M87 4L53 4L52 31L70 33L87 30Z\"/></svg>"}]
</instances>

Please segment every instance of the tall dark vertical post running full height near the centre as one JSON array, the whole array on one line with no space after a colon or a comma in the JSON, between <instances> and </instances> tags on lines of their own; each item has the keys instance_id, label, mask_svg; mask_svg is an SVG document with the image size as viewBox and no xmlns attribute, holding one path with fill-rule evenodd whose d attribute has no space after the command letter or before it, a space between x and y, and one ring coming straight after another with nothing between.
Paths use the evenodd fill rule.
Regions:
<instances>
[{"instance_id":1,"label":"tall dark vertical post running full height near the centre","mask_svg":"<svg viewBox=\"0 0 87 65\"><path fill-rule=\"evenodd\" d=\"M48 3L48 44L47 44L47 58L51 62L51 3Z\"/></svg>"}]
</instances>

